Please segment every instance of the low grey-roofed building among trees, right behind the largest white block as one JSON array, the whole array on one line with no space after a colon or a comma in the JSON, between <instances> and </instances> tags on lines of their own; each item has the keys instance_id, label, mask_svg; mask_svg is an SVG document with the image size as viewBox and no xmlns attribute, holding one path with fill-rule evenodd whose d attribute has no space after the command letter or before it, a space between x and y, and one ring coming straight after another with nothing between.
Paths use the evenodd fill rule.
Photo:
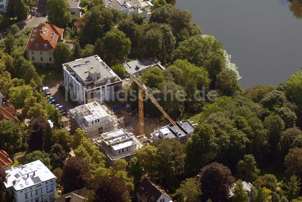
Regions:
<instances>
[{"instance_id":1,"label":"low grey-roofed building among trees, right behind the largest white block","mask_svg":"<svg viewBox=\"0 0 302 202\"><path fill-rule=\"evenodd\" d=\"M162 63L156 58L152 57L146 60L133 60L130 62L122 61L122 65L124 66L125 70L129 74L140 73L142 70L151 68L151 67L158 67L160 70L165 70L165 67L162 66Z\"/></svg>"}]
</instances>

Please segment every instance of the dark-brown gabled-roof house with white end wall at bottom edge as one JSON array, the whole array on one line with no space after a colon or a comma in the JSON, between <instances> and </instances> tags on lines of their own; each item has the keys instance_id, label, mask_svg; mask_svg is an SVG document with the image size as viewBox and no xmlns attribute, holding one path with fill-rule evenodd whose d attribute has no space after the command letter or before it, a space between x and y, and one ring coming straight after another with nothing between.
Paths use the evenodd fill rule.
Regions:
<instances>
[{"instance_id":1,"label":"dark-brown gabled-roof house with white end wall at bottom edge","mask_svg":"<svg viewBox=\"0 0 302 202\"><path fill-rule=\"evenodd\" d=\"M137 186L136 196L139 202L172 202L165 190L147 178Z\"/></svg>"}]
</instances>

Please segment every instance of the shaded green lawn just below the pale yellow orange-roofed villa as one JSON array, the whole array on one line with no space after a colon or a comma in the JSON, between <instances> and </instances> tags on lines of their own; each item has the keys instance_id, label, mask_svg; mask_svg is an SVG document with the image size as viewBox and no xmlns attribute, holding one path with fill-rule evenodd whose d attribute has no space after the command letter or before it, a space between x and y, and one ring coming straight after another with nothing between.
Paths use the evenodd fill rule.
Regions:
<instances>
[{"instance_id":1,"label":"shaded green lawn just below the pale yellow orange-roofed villa","mask_svg":"<svg viewBox=\"0 0 302 202\"><path fill-rule=\"evenodd\" d=\"M56 70L52 67L37 67L36 70L42 83L63 79L62 70Z\"/></svg>"}]
</instances>

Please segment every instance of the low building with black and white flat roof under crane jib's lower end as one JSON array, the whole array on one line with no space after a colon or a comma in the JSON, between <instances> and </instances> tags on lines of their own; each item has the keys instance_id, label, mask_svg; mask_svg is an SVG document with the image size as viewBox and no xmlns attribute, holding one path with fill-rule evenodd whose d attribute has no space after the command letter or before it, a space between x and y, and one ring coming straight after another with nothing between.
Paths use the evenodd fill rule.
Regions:
<instances>
[{"instance_id":1,"label":"low building with black and white flat roof under crane jib's lower end","mask_svg":"<svg viewBox=\"0 0 302 202\"><path fill-rule=\"evenodd\" d=\"M154 142L160 139L172 138L178 140L180 143L185 144L190 139L194 132L194 125L189 120L176 122L180 131L171 123L151 133Z\"/></svg>"}]
</instances>

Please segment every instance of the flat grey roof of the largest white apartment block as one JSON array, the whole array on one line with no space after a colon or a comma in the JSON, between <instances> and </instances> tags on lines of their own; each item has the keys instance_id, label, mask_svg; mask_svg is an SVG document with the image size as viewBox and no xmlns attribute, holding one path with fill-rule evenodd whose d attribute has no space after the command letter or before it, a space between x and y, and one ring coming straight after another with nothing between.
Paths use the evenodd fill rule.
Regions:
<instances>
[{"instance_id":1,"label":"flat grey roof of the largest white apartment block","mask_svg":"<svg viewBox=\"0 0 302 202\"><path fill-rule=\"evenodd\" d=\"M98 80L103 80L104 77L114 78L116 75L113 71L108 67L104 67L102 64L103 60L97 55L81 58L72 62L68 62L63 64L64 66L68 66L69 72L72 70L76 73L76 76L80 77L82 81L89 82L92 81L92 78L89 76L91 74L100 74Z\"/></svg>"}]
</instances>

